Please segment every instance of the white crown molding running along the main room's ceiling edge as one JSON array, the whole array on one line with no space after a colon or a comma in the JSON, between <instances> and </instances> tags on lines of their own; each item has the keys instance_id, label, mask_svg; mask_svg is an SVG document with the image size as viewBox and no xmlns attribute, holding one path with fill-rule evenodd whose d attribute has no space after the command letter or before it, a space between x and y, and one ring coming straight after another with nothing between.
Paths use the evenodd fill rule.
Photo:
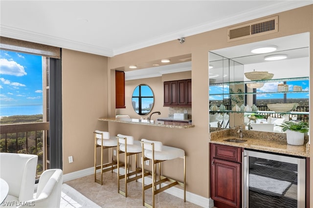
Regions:
<instances>
[{"instance_id":1,"label":"white crown molding running along the main room's ceiling edge","mask_svg":"<svg viewBox=\"0 0 313 208\"><path fill-rule=\"evenodd\" d=\"M239 15L229 16L219 21L211 23L199 24L194 27L189 27L181 31L164 34L158 38L151 39L145 42L138 42L135 44L127 45L122 48L110 49L99 47L96 45L90 45L82 42L75 42L67 39L62 39L54 36L44 35L35 33L32 31L22 30L18 28L9 27L0 24L0 36L19 39L22 41L36 42L55 47L67 48L70 50L76 50L101 56L113 57L115 55L123 54L126 52L134 51L144 47L156 45L163 42L169 42L177 40L179 37L188 37L203 32L211 31L214 29L238 24L245 21L251 21L254 19L266 17L276 13L288 11L302 6L313 4L312 0L301 0L301 1L279 1L271 4L270 6L256 8ZM188 40L187 40L188 41Z\"/></svg>"}]
</instances>

